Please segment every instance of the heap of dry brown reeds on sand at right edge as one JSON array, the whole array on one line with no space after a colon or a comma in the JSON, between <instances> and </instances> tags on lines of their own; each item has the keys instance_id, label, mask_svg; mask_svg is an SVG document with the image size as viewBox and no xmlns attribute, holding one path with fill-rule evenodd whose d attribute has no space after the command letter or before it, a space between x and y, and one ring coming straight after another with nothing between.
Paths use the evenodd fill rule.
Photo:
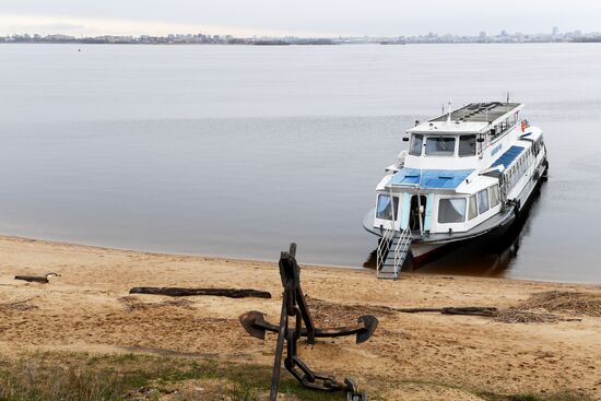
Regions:
<instances>
[{"instance_id":1,"label":"heap of dry brown reeds on sand at right edge","mask_svg":"<svg viewBox=\"0 0 601 401\"><path fill-rule=\"evenodd\" d=\"M532 295L519 308L601 317L601 293L547 291Z\"/></svg>"}]
</instances>

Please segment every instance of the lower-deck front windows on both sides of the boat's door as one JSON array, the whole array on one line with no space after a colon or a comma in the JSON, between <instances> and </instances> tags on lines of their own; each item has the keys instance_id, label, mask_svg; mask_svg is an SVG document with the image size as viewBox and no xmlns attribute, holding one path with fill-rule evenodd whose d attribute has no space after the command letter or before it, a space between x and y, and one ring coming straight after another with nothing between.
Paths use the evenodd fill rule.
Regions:
<instances>
[{"instance_id":1,"label":"lower-deck front windows on both sides of the boat's door","mask_svg":"<svg viewBox=\"0 0 601 401\"><path fill-rule=\"evenodd\" d=\"M444 198L438 202L438 223L463 223L487 212L500 202L498 185L486 188L469 198ZM379 194L376 205L376 217L398 220L399 198Z\"/></svg>"}]
</instances>

